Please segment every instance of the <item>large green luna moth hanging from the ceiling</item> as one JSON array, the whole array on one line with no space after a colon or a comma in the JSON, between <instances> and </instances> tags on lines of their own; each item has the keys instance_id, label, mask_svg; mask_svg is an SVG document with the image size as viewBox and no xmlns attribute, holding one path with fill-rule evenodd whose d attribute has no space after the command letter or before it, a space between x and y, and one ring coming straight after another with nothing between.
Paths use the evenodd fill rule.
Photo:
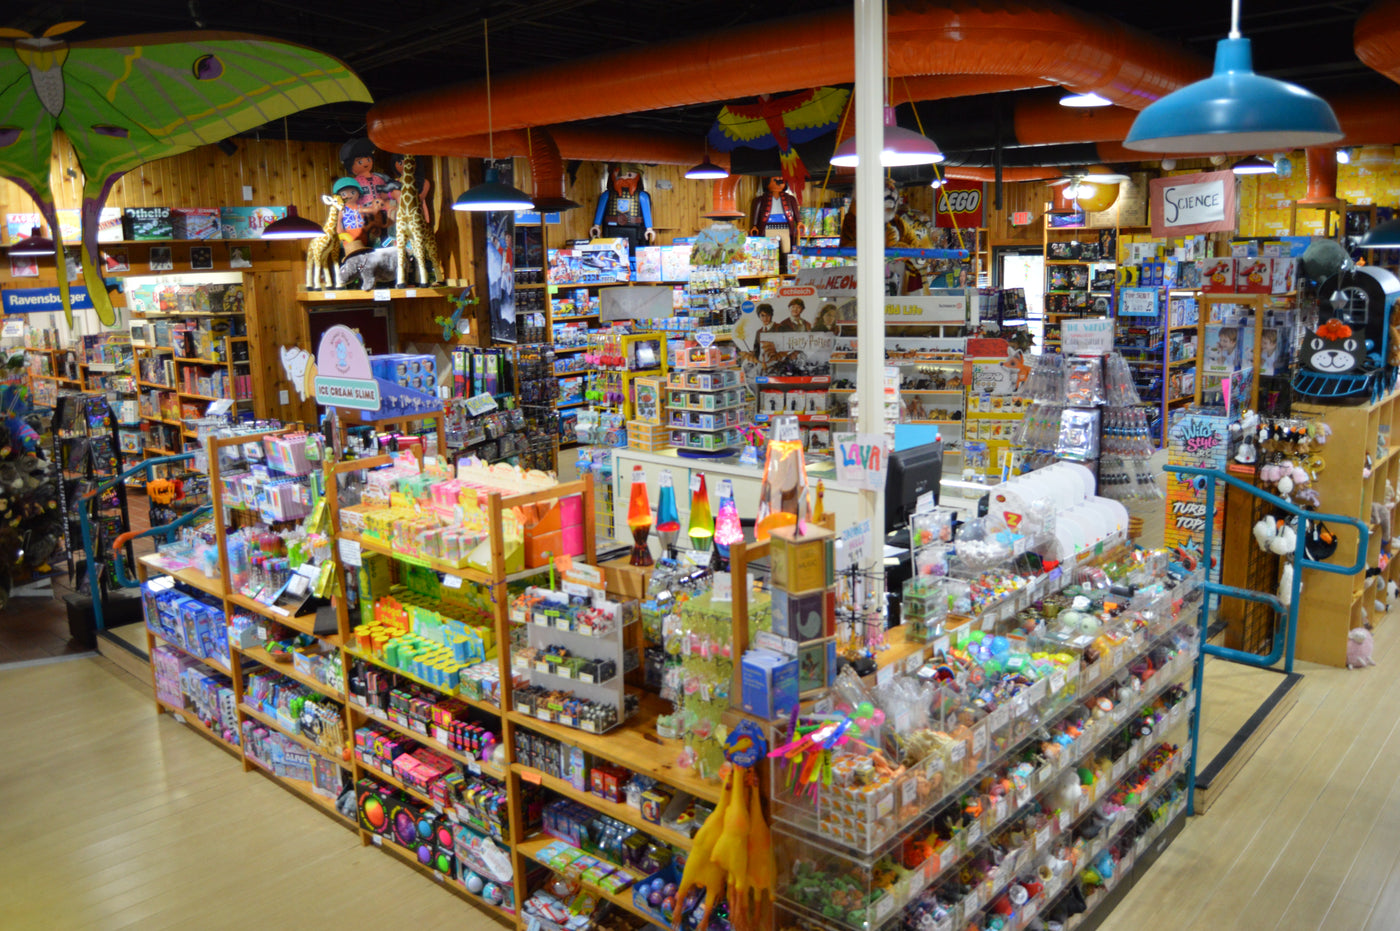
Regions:
<instances>
[{"instance_id":1,"label":"large green luna moth hanging from the ceiling","mask_svg":"<svg viewBox=\"0 0 1400 931\"><path fill-rule=\"evenodd\" d=\"M370 91L336 59L300 45L238 32L53 38L80 25L60 22L38 38L0 29L0 175L34 197L62 255L49 155L55 130L67 136L83 168L83 281L111 325L97 227L122 175L311 106L370 102ZM66 274L59 288L71 323Z\"/></svg>"}]
</instances>

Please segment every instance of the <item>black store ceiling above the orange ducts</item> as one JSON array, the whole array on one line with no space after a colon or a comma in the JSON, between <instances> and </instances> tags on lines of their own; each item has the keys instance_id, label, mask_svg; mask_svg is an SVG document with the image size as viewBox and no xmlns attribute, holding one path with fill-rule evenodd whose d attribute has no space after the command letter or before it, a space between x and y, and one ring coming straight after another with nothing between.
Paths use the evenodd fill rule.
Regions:
<instances>
[{"instance_id":1,"label":"black store ceiling above the orange ducts","mask_svg":"<svg viewBox=\"0 0 1400 931\"><path fill-rule=\"evenodd\" d=\"M461 3L395 0L363 4L339 0L13 0L0 25L34 34L67 20L84 20L73 41L140 32L223 29L258 32L323 49L344 60L377 99L388 99L483 74L482 18L491 21L493 74L647 45L713 29L764 22L819 8L848 7L850 0L500 0ZM1179 42L1210 60L1228 29L1228 0L1161 3L1071 0L1070 6L1117 18ZM1254 45L1256 69L1303 84L1323 97L1393 90L1354 52L1352 28L1365 0L1306 3L1245 0L1243 32ZM774 31L773 48L783 48ZM777 53L777 52L774 52ZM561 94L589 92L560 88ZM1046 94L1047 91L1030 91ZM997 95L1005 99L1008 95ZM986 148L994 141L991 98L963 98L921 108L930 134L955 136L956 147ZM592 122L701 136L718 104L633 113ZM342 141L364 133L365 108L336 105L307 111L290 120L298 139ZM938 126L948 126L939 133ZM280 126L263 134L281 136ZM1397 140L1400 141L1400 140ZM949 148L948 143L944 143Z\"/></svg>"}]
</instances>

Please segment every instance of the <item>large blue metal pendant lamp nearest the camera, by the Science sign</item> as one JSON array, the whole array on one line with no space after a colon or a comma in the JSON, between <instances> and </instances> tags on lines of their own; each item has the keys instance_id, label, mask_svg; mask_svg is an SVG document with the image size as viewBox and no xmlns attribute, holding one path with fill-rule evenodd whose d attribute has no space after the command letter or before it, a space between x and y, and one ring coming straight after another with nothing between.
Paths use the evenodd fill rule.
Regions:
<instances>
[{"instance_id":1,"label":"large blue metal pendant lamp nearest the camera, by the Science sign","mask_svg":"<svg viewBox=\"0 0 1400 931\"><path fill-rule=\"evenodd\" d=\"M1215 73L1138 113L1123 144L1149 153L1257 153L1326 146L1341 134L1324 99L1254 74L1249 39L1239 34L1239 0L1231 0L1231 31L1215 46Z\"/></svg>"}]
</instances>

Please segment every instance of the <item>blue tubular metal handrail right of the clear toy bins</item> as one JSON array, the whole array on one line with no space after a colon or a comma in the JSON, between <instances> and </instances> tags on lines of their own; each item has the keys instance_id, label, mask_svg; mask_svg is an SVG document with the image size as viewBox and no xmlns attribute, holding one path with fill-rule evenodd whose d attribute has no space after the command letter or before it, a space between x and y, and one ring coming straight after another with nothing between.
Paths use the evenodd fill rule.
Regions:
<instances>
[{"instance_id":1,"label":"blue tubular metal handrail right of the clear toy bins","mask_svg":"<svg viewBox=\"0 0 1400 931\"><path fill-rule=\"evenodd\" d=\"M1352 517L1344 517L1341 514L1317 514L1315 511L1305 511L1292 501L1285 501L1277 494L1270 494L1268 491L1261 491L1256 489L1249 482L1238 479L1219 469L1203 469L1200 466L1166 466L1166 472L1172 472L1179 476L1201 476L1208 479L1205 483L1205 538L1201 542L1201 559L1205 566L1205 581L1201 584L1204 596L1201 598L1201 613L1198 619L1200 626L1200 644L1201 652L1196 659L1194 672L1194 686L1196 686L1196 714L1191 715L1191 777L1187 783L1186 792L1186 811L1187 813L1196 813L1196 755L1200 749L1201 736L1201 687L1205 679L1205 657L1219 657L1221 659L1228 659L1229 662L1239 662L1247 666L1268 668L1273 666L1280 658L1284 659L1284 671L1294 671L1294 641L1298 637L1298 598L1303 588L1303 570L1315 568L1322 573L1336 573L1338 575L1355 575L1366 567L1366 546L1371 543L1371 528ZM1278 508L1284 514L1298 518L1298 539L1294 543L1294 580L1289 591L1288 605L1284 605L1277 595L1266 595L1263 592L1256 592L1249 588L1238 588L1235 585L1224 585L1221 582L1211 581L1211 560L1215 553L1215 522L1212 519L1215 514L1215 483L1224 482L1232 484L1236 489L1249 491L1256 498L1267 501L1273 507ZM1315 559L1308 559L1306 556L1306 521L1326 521L1330 524L1348 524L1357 528L1357 559L1351 566L1333 566L1331 563L1320 563ZM1288 623L1285 623L1280 630L1274 633L1274 648L1268 655L1260 655L1256 652L1247 652L1243 650L1231 650L1229 647L1217 647L1207 643L1208 627L1210 627L1210 613L1211 613L1211 595L1229 595L1231 598L1240 598L1243 601L1259 602L1263 605L1270 605L1274 610L1285 613L1288 616Z\"/></svg>"}]
</instances>

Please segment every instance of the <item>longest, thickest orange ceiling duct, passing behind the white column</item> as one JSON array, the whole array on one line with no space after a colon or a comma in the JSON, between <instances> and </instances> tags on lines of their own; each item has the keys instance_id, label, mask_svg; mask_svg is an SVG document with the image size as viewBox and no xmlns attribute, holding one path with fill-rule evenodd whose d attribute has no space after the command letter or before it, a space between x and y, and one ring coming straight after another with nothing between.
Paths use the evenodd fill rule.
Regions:
<instances>
[{"instance_id":1,"label":"longest, thickest orange ceiling duct, passing behind the white column","mask_svg":"<svg viewBox=\"0 0 1400 931\"><path fill-rule=\"evenodd\" d=\"M1096 91L1131 109L1208 73L1182 49L1053 1L906 0L890 10L886 32L895 78L1019 77ZM830 10L505 74L491 97L496 126L521 129L843 84L854 74L850 11ZM389 151L437 154L442 140L487 132L484 91L473 81L378 104L370 137Z\"/></svg>"}]
</instances>

